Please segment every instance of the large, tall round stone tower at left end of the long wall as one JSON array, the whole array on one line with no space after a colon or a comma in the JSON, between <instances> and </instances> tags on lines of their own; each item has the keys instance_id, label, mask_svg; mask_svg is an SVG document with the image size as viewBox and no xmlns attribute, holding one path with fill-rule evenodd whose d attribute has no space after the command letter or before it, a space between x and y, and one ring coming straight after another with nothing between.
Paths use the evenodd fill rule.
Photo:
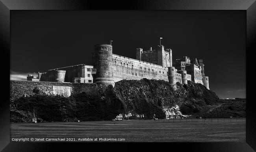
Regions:
<instances>
[{"instance_id":1,"label":"large, tall round stone tower at left end of the long wall","mask_svg":"<svg viewBox=\"0 0 256 152\"><path fill-rule=\"evenodd\" d=\"M113 56L112 45L98 44L95 45L94 67L96 68L95 82L105 85L115 85L113 80Z\"/></svg>"}]
</instances>

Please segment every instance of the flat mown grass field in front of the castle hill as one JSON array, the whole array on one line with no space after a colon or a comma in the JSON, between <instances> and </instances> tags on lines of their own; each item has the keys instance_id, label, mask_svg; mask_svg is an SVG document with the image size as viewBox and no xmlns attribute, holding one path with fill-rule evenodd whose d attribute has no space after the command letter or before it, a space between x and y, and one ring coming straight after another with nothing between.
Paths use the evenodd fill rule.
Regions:
<instances>
[{"instance_id":1,"label":"flat mown grass field in front of the castle hill","mask_svg":"<svg viewBox=\"0 0 256 152\"><path fill-rule=\"evenodd\" d=\"M78 138L122 138L126 142L245 142L245 123L245 119L11 123L10 139L73 138L79 142Z\"/></svg>"}]
</instances>

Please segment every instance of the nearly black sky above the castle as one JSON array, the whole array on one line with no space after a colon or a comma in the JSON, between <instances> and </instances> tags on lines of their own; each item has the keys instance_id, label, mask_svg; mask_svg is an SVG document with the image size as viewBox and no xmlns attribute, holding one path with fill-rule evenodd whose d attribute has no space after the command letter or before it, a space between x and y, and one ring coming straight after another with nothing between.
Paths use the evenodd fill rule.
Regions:
<instances>
[{"instance_id":1,"label":"nearly black sky above the castle","mask_svg":"<svg viewBox=\"0 0 256 152\"><path fill-rule=\"evenodd\" d=\"M219 98L245 98L246 11L11 11L11 72L92 65L94 45L109 40L114 54L135 58L160 37L173 60L204 60Z\"/></svg>"}]
</instances>

